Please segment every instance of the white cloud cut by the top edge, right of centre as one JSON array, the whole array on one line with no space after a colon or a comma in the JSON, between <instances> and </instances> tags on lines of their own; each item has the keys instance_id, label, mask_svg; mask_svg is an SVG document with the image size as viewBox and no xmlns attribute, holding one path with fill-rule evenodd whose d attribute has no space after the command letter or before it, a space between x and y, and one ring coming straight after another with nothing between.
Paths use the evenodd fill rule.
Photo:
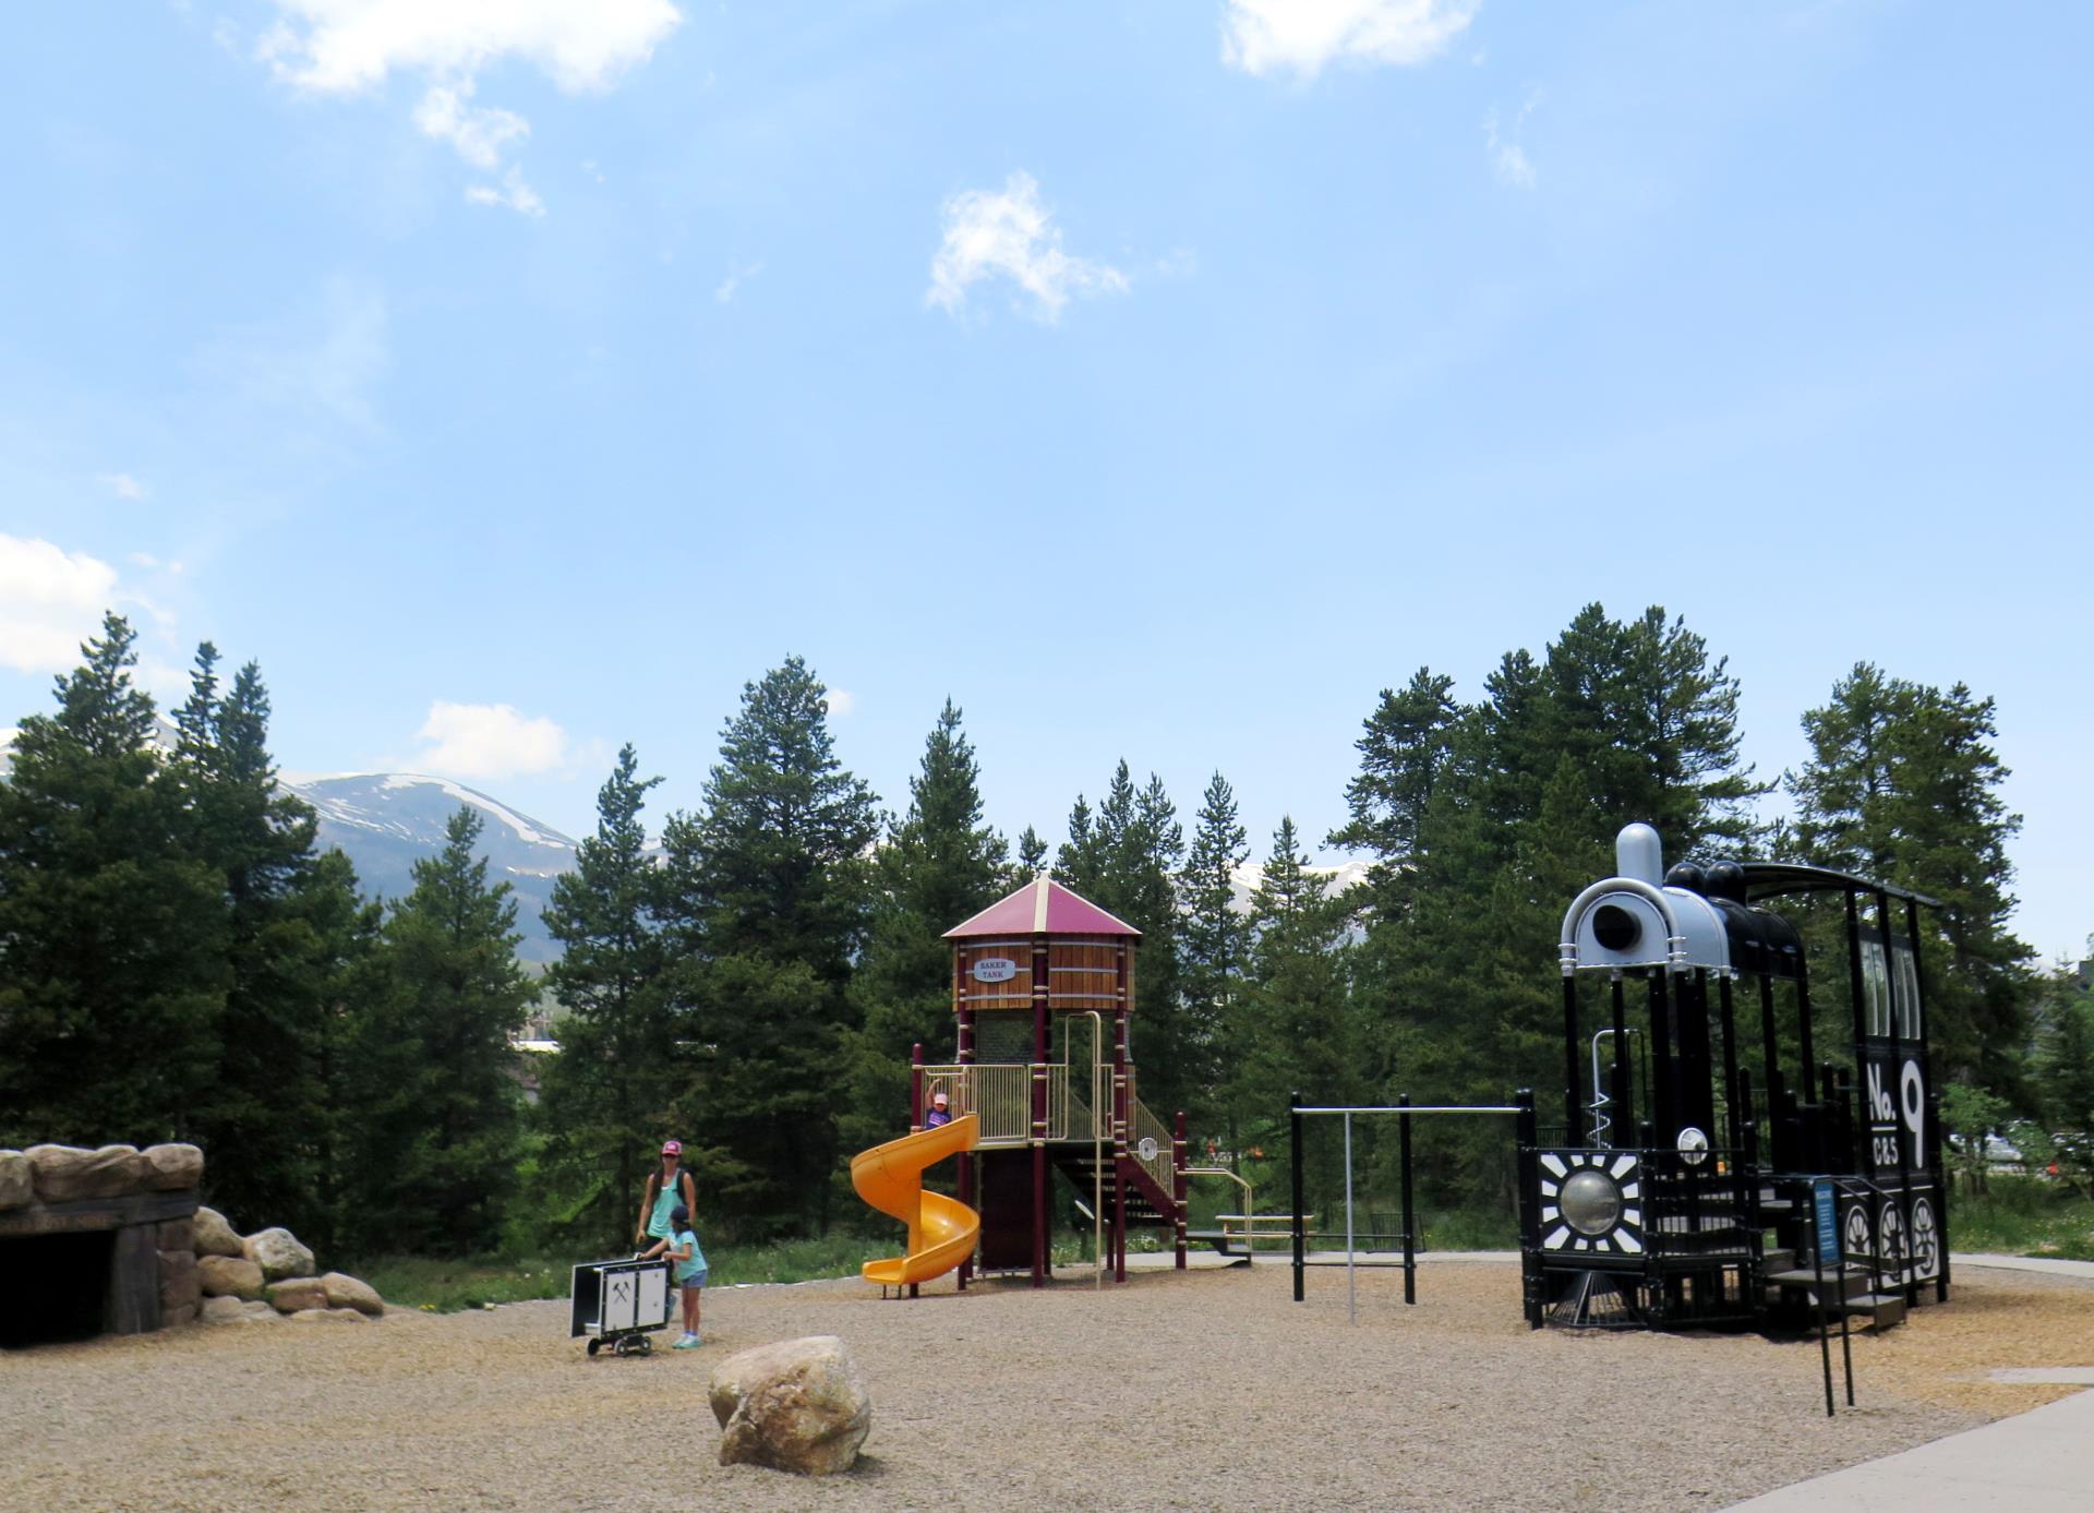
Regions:
<instances>
[{"instance_id":1,"label":"white cloud cut by the top edge, right of centre","mask_svg":"<svg viewBox=\"0 0 2094 1513\"><path fill-rule=\"evenodd\" d=\"M1244 73L1313 80L1332 61L1413 67L1439 57L1480 0L1227 0L1221 57Z\"/></svg>"}]
</instances>

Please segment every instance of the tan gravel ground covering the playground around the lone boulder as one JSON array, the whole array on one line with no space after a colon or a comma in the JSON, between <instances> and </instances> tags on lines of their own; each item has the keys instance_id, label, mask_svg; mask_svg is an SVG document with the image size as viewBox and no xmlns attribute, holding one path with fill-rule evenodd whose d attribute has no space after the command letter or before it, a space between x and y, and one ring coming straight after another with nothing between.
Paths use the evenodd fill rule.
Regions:
<instances>
[{"instance_id":1,"label":"tan gravel ground covering the playground around the lone boulder","mask_svg":"<svg viewBox=\"0 0 2094 1513\"><path fill-rule=\"evenodd\" d=\"M1145 1272L917 1301L706 1295L708 1345L588 1360L565 1303L377 1324L199 1326L0 1356L8 1509L1713 1509L2060 1396L2094 1287L2008 1272L1885 1339L1828 1421L1815 1343L1529 1333L1518 1270L1428 1264L1420 1306L1342 1272ZM727 1352L842 1335L873 1394L859 1469L718 1467ZM668 1337L660 1337L668 1343Z\"/></svg>"}]
</instances>

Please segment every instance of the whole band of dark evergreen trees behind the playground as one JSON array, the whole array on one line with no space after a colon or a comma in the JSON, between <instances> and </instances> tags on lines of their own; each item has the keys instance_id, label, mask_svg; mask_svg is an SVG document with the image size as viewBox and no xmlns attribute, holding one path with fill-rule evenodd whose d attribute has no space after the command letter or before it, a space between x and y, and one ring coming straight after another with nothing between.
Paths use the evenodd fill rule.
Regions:
<instances>
[{"instance_id":1,"label":"whole band of dark evergreen trees behind the playground","mask_svg":"<svg viewBox=\"0 0 2094 1513\"><path fill-rule=\"evenodd\" d=\"M1939 899L1935 1077L1962 1148L2017 1127L2094 1194L2094 1000L2008 930L1991 700L1855 664L1797 710L1809 759L1780 775L1742 763L1738 710L1681 618L1596 604L1539 652L1382 689L1330 836L1252 838L1223 773L1185 811L1120 761L1051 849L984 821L955 702L884 803L785 658L727 712L697 809L655 813L658 775L618 752L538 981L471 811L408 893L364 897L276 782L260 666L199 648L157 740L111 614L0 782L0 1144L193 1140L235 1222L350 1255L609 1253L668 1136L708 1247L871 1228L846 1157L900 1134L911 1044L951 1058L940 933L1051 872L1143 933L1143 1098L1273 1180L1296 1090L1501 1102L1560 1079L1562 909L1648 819L1667 859L1776 855ZM1334 891L1321 847L1363 880ZM526 1056L542 1002L561 1050ZM1426 1201L1510 1194L1506 1144L1428 1146ZM1328 1203L1338 1148L1305 1159ZM1365 1180L1386 1163L1367 1138Z\"/></svg>"}]
</instances>

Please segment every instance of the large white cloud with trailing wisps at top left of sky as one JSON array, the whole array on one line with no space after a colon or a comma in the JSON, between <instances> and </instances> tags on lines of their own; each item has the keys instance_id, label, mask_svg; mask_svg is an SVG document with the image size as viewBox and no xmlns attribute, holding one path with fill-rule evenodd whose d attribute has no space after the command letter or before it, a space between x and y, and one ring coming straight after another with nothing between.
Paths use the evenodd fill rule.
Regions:
<instances>
[{"instance_id":1,"label":"large white cloud with trailing wisps at top left of sky","mask_svg":"<svg viewBox=\"0 0 2094 1513\"><path fill-rule=\"evenodd\" d=\"M471 105L482 69L519 61L567 94L609 90L683 25L670 0L274 0L283 19L255 54L314 94L362 94L394 73L427 80L415 124L494 172L530 136L515 111ZM542 216L521 178L467 199Z\"/></svg>"}]
</instances>

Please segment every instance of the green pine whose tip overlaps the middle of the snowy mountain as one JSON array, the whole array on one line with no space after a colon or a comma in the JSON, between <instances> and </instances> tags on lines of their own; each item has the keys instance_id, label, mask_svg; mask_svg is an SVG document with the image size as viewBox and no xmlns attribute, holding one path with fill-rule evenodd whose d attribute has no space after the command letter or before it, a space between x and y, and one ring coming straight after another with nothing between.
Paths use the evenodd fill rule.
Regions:
<instances>
[{"instance_id":1,"label":"green pine whose tip overlaps the middle of the snowy mountain","mask_svg":"<svg viewBox=\"0 0 2094 1513\"><path fill-rule=\"evenodd\" d=\"M536 989L515 960L513 889L473 855L480 832L461 805L379 937L383 997L354 1048L364 1096L348 1220L366 1251L492 1249L515 1192L524 1102L509 1039Z\"/></svg>"}]
</instances>

